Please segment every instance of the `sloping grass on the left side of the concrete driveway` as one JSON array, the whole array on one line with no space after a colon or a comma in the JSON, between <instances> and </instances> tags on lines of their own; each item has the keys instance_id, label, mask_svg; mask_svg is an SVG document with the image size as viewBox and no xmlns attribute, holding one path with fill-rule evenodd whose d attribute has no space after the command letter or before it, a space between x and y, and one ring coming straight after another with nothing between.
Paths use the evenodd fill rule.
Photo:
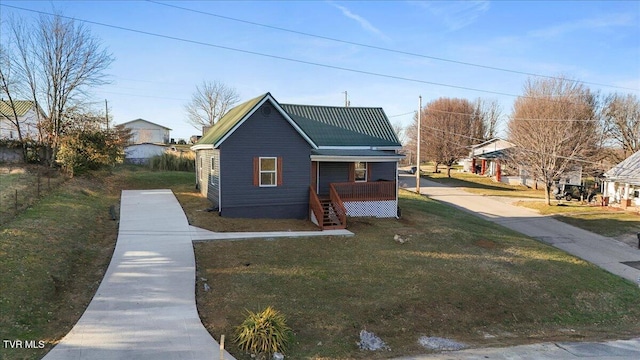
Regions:
<instances>
[{"instance_id":1,"label":"sloping grass on the left side of the concrete driveway","mask_svg":"<svg viewBox=\"0 0 640 360\"><path fill-rule=\"evenodd\" d=\"M135 166L95 172L64 182L6 221L0 228L0 338L47 346L0 347L0 359L41 358L82 315L113 253L117 222L109 207L119 208L120 190L188 192L194 180L192 173Z\"/></svg>"}]
</instances>

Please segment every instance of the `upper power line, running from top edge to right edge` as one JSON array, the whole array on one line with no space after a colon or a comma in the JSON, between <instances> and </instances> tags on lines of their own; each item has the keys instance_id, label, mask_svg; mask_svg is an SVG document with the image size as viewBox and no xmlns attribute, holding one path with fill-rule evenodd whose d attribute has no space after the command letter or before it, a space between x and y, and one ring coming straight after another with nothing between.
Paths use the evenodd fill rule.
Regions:
<instances>
[{"instance_id":1,"label":"upper power line, running from top edge to right edge","mask_svg":"<svg viewBox=\"0 0 640 360\"><path fill-rule=\"evenodd\" d=\"M512 73L512 74L527 75L527 76L540 77L540 78L546 78L546 79L559 79L556 76L542 75L542 74L536 74L536 73L531 73L531 72L526 72L526 71L506 69L506 68L500 68L500 67L489 66L489 65L482 65L482 64L470 63L470 62L466 62L466 61L445 59L445 58L441 58L441 57L430 56L430 55L425 55L425 54L418 54L418 53L409 52L409 51L385 48L385 47L382 47L382 46L363 44L363 43L358 43L358 42L349 41L349 40L342 40L342 39L333 38L333 37L324 36L324 35L311 34L311 33L303 32L303 31L282 28L282 27L279 27L279 26L267 25L267 24L262 24L262 23L258 23L258 22L254 22L254 21L233 18L233 17L230 17L230 16L214 14L214 13L210 13L210 12L206 12L206 11L202 11L202 10L190 9L190 8L186 8L186 7L183 7L183 6L166 4L166 3L159 2L159 1L147 0L147 2L156 4L156 5L175 8L175 9L179 9L179 10L184 10L184 11L188 11L188 12L193 12L193 13L197 13L197 14L201 14L201 15L213 16L213 17L217 17L217 18L220 18L220 19L225 19L225 20L229 20L229 21L235 21L235 22L239 22L239 23L243 23L243 24L249 24L249 25L264 27L264 28L267 28L267 29L273 29L273 30L288 32L288 33L292 33L292 34L302 35L302 36L314 37L314 38L317 38L317 39L334 41L334 42L347 44L347 45L355 45L355 46L359 46L359 47L364 47L364 48L374 49L374 50L379 50L379 51L384 51L384 52L390 52L390 53L396 53L396 54L402 54L402 55L421 57L421 58L425 58L425 59L437 60L437 61L448 62L448 63L458 64L458 65L472 66L472 67L476 67L476 68L482 68L482 69L488 69L488 70L494 70L494 71L507 72L507 73ZM624 86L609 85L609 84L602 84L602 83L589 82L589 81L575 80L575 82L582 83L582 84L587 84L587 85L596 85L596 86L604 86L604 87L616 88L616 89L640 91L640 89L635 89L635 88L628 88L628 87L624 87Z\"/></svg>"}]
</instances>

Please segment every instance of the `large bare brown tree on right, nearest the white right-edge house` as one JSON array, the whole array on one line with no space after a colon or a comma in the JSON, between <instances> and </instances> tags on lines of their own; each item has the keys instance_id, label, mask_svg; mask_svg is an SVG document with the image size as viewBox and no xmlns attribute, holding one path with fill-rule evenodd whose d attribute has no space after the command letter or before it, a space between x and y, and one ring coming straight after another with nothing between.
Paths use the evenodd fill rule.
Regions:
<instances>
[{"instance_id":1,"label":"large bare brown tree on right, nearest the white right-edge house","mask_svg":"<svg viewBox=\"0 0 640 360\"><path fill-rule=\"evenodd\" d=\"M598 121L596 96L583 84L563 77L531 80L513 106L508 124L511 155L545 185L551 204L551 186L566 171L596 150Z\"/></svg>"}]
</instances>

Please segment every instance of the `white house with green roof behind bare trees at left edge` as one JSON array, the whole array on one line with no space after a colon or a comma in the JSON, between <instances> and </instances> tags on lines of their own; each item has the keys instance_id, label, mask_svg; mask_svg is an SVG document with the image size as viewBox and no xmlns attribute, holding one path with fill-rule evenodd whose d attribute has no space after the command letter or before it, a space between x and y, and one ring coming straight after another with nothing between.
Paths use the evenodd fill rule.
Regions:
<instances>
[{"instance_id":1,"label":"white house with green roof behind bare trees at left edge","mask_svg":"<svg viewBox=\"0 0 640 360\"><path fill-rule=\"evenodd\" d=\"M36 105L30 100L14 101L16 113L18 114L18 123L20 124L20 132L23 139L37 140L40 138L38 131L38 113L41 118L45 118L42 109L36 109ZM8 100L0 100L0 139L18 140L18 129L12 122L14 118L13 109ZM12 119L12 120L9 120Z\"/></svg>"}]
</instances>

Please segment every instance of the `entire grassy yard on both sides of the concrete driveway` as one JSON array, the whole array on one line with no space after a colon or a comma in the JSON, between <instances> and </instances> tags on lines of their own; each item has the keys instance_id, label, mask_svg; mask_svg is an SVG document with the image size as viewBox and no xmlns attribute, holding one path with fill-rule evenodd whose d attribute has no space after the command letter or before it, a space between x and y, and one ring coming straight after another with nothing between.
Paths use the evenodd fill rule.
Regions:
<instances>
[{"instance_id":1,"label":"entire grassy yard on both sides of the concrete driveway","mask_svg":"<svg viewBox=\"0 0 640 360\"><path fill-rule=\"evenodd\" d=\"M6 183L5 183L6 184ZM220 218L194 175L120 167L71 179L0 229L0 335L47 348L0 349L37 359L77 321L109 263L122 189L170 188L190 222L212 230L313 229L308 222ZM231 342L244 310L273 305L295 331L289 358L388 358L424 353L419 336L469 346L640 334L637 286L497 225L403 192L403 218L350 219L351 238L198 243L203 323ZM393 240L399 234L409 241ZM206 280L202 280L206 279ZM203 291L204 282L211 286ZM360 330L391 352L358 350Z\"/></svg>"}]
</instances>

